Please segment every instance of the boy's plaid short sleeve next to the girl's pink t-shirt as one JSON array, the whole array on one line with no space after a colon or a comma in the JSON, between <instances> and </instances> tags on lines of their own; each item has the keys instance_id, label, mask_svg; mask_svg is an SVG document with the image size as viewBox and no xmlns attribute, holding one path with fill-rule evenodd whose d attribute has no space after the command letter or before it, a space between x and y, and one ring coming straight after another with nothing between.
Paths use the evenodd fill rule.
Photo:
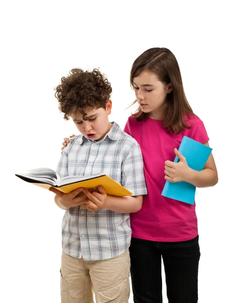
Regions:
<instances>
[{"instance_id":1,"label":"boy's plaid short sleeve next to the girl's pink t-shirt","mask_svg":"<svg viewBox=\"0 0 249 303\"><path fill-rule=\"evenodd\" d=\"M139 145L134 143L122 163L122 186L132 192L132 196L147 194L143 173L143 159Z\"/></svg>"}]
</instances>

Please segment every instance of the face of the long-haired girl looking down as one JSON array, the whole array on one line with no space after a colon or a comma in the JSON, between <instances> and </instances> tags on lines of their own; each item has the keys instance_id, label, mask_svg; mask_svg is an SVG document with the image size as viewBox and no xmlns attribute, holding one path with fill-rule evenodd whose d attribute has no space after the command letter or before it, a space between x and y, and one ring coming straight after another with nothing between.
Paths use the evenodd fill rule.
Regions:
<instances>
[{"instance_id":1,"label":"face of the long-haired girl looking down","mask_svg":"<svg viewBox=\"0 0 249 303\"><path fill-rule=\"evenodd\" d=\"M152 72L143 71L139 76L134 77L133 87L142 111L148 113L150 118L161 120L166 95L172 91L172 85L164 84Z\"/></svg>"}]
</instances>

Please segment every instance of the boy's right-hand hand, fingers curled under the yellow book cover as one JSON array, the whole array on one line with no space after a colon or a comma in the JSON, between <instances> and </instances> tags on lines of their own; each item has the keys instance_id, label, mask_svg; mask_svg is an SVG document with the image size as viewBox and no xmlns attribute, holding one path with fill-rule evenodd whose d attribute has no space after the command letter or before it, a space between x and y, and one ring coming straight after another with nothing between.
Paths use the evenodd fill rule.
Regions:
<instances>
[{"instance_id":1,"label":"boy's right-hand hand, fingers curled under the yellow book cover","mask_svg":"<svg viewBox=\"0 0 249 303\"><path fill-rule=\"evenodd\" d=\"M92 193L85 188L83 190L88 197L86 209L90 212L96 212L105 206L107 198L105 189L101 185L98 185L97 189L98 191L93 191Z\"/></svg>"}]
</instances>

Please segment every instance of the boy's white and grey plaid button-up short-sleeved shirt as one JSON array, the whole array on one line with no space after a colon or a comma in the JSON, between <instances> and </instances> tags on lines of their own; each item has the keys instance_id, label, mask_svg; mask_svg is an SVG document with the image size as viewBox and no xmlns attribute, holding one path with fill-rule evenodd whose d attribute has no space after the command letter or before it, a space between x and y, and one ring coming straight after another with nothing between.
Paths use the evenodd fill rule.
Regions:
<instances>
[{"instance_id":1,"label":"boy's white and grey plaid button-up short-sleeved shirt","mask_svg":"<svg viewBox=\"0 0 249 303\"><path fill-rule=\"evenodd\" d=\"M63 150L57 172L61 177L103 173L132 195L147 193L140 147L115 122L100 141L83 135L71 138ZM92 213L83 205L70 208L64 215L62 247L69 256L82 256L86 261L116 258L128 249L130 239L129 214L107 209Z\"/></svg>"}]
</instances>

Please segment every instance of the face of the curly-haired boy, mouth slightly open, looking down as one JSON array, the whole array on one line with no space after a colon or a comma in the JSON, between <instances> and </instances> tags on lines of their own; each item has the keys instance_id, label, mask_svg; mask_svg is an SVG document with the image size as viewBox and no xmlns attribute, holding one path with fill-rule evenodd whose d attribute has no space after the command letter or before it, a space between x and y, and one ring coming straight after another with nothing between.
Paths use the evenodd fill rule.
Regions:
<instances>
[{"instance_id":1,"label":"face of the curly-haired boy, mouth slightly open, looking down","mask_svg":"<svg viewBox=\"0 0 249 303\"><path fill-rule=\"evenodd\" d=\"M112 127L108 116L111 114L112 101L108 100L106 108L89 108L84 110L84 118L80 112L70 114L78 130L85 137L98 141L105 137Z\"/></svg>"}]
</instances>

